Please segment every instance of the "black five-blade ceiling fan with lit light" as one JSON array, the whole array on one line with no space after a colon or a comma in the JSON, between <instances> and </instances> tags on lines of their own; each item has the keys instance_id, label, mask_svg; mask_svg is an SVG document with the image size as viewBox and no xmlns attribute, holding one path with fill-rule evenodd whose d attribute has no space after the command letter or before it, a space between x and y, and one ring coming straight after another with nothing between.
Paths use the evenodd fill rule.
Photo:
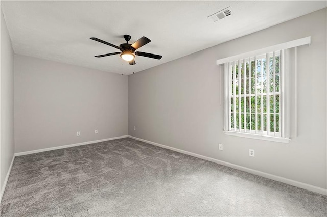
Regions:
<instances>
[{"instance_id":1,"label":"black five-blade ceiling fan with lit light","mask_svg":"<svg viewBox=\"0 0 327 217\"><path fill-rule=\"evenodd\" d=\"M135 65L136 64L135 60L134 60L135 55L142 56L142 57L149 57L149 58L153 58L153 59L157 59L157 60L160 60L162 58L161 55L155 55L153 53L145 53L145 52L139 52L139 51L135 52L136 49L146 45L147 43L149 43L151 41L150 39L148 39L147 37L144 37L144 36L142 38L138 39L137 41L135 41L133 44L129 44L128 41L131 39L131 36L130 35L124 35L124 39L125 39L126 43L121 44L119 46L116 46L114 44L110 44L109 42L106 42L106 41L103 41L101 39L94 38L94 37L92 37L90 39L98 41L98 42L106 44L106 45L109 45L111 47L117 48L120 51L122 51L122 52L106 53L106 54L98 55L98 56L95 56L95 57L106 57L106 56L120 54L121 58L123 60L128 61L129 65Z\"/></svg>"}]
</instances>

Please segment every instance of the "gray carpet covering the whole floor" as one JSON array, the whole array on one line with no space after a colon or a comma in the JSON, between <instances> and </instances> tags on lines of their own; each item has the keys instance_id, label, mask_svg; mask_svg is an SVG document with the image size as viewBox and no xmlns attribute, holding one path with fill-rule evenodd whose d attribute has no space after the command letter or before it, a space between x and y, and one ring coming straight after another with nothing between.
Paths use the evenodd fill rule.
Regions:
<instances>
[{"instance_id":1,"label":"gray carpet covering the whole floor","mask_svg":"<svg viewBox=\"0 0 327 217\"><path fill-rule=\"evenodd\" d=\"M1 216L327 216L327 197L125 138L16 157Z\"/></svg>"}]
</instances>

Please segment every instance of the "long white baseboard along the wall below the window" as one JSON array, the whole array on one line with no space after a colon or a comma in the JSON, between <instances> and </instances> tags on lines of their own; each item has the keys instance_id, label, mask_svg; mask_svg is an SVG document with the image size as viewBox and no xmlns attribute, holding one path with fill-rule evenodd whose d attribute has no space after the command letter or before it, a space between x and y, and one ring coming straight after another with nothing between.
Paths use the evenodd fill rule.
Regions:
<instances>
[{"instance_id":1,"label":"long white baseboard along the wall below the window","mask_svg":"<svg viewBox=\"0 0 327 217\"><path fill-rule=\"evenodd\" d=\"M315 192L315 193L319 193L319 194L322 194L322 195L327 195L327 189L325 189L325 188L317 187L317 186L314 186L314 185L306 184L306 183L303 183L303 182L295 181L295 180L284 178L284 177L281 177L281 176L276 176L276 175L273 175L273 174L270 174L270 173L261 172L259 170L253 170L253 169L250 169L250 168L247 168L247 167L242 167L242 166L239 166L239 165L236 165L236 164L231 164L231 163L226 162L226 161L217 160L217 159L214 159L214 158L211 158L211 157L206 157L206 156L203 156L203 155L200 155L200 154L196 154L196 153L189 152L189 151L184 151L184 150L181 150L181 149L178 149L178 148L173 148L173 147L170 147L170 146L162 145L162 144L159 144L159 143L151 142L151 141L140 139L140 138L137 138L137 137L132 137L131 135L128 135L128 137L132 138L132 139L135 139L135 140L138 140L138 141L149 143L149 144L152 144L152 145L155 145L155 146L159 146L159 147L162 147L162 148L167 148L167 149L177 151L177 152L180 152L180 153L183 153L183 154L187 154L187 155L191 155L191 156L194 156L194 157L197 157L197 158L201 158L201 159L204 159L204 160L215 162L216 164L221 164L221 165L231 167L231 168L234 168L234 169L237 169L237 170L245 171L245 172L252 173L252 174L255 174L255 175L258 175L258 176L262 176L262 177L265 177L265 178L268 178L268 179L272 179L272 180L275 180L275 181L280 181L280 182L283 182L283 183L286 183L286 184L289 184L289 185L293 185L293 186L296 186L296 187L307 189L307 190Z\"/></svg>"}]
</instances>

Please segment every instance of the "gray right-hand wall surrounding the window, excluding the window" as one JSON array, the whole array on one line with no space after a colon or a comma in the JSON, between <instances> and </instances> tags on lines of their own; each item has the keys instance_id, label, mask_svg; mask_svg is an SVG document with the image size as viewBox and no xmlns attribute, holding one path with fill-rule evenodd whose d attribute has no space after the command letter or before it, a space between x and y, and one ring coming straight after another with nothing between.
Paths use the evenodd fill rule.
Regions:
<instances>
[{"instance_id":1,"label":"gray right-hand wall surrounding the window, excluding the window","mask_svg":"<svg viewBox=\"0 0 327 217\"><path fill-rule=\"evenodd\" d=\"M224 135L216 60L307 36L311 45L298 48L298 136L294 117L289 144ZM128 134L326 188L326 9L129 75Z\"/></svg>"}]
</instances>

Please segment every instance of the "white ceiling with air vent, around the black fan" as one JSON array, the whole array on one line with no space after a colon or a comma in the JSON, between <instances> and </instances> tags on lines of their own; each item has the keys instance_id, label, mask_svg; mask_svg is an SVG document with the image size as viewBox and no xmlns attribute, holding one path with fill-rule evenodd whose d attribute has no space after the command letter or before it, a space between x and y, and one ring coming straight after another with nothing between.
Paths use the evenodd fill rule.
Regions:
<instances>
[{"instance_id":1,"label":"white ceiling with air vent, around the black fan","mask_svg":"<svg viewBox=\"0 0 327 217\"><path fill-rule=\"evenodd\" d=\"M326 1L1 1L15 53L114 73L131 74L327 7ZM232 15L207 16L230 6ZM130 66L115 45L131 35L151 42Z\"/></svg>"}]
</instances>

